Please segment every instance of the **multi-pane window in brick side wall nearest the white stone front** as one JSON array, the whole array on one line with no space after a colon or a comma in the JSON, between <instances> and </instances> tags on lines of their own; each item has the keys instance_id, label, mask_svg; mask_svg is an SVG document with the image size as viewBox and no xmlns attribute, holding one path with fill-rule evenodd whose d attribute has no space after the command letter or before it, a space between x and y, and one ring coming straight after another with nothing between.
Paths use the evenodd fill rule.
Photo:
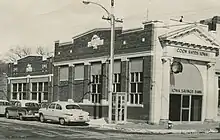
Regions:
<instances>
[{"instance_id":1,"label":"multi-pane window in brick side wall nearest the white stone front","mask_svg":"<svg viewBox=\"0 0 220 140\"><path fill-rule=\"evenodd\" d=\"M130 73L130 103L131 104L143 103L143 73L142 72Z\"/></svg>"}]
</instances>

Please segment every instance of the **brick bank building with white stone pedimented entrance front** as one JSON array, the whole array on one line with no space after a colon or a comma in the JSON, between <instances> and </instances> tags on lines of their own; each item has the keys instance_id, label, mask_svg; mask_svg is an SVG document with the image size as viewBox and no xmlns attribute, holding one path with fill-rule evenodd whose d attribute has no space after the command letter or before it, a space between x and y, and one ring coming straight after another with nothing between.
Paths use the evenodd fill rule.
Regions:
<instances>
[{"instance_id":1,"label":"brick bank building with white stone pedimented entrance front","mask_svg":"<svg viewBox=\"0 0 220 140\"><path fill-rule=\"evenodd\" d=\"M220 44L211 32L159 21L115 32L113 121L217 119ZM107 118L109 48L109 28L56 41L53 100L72 98L94 118Z\"/></svg>"}]
</instances>

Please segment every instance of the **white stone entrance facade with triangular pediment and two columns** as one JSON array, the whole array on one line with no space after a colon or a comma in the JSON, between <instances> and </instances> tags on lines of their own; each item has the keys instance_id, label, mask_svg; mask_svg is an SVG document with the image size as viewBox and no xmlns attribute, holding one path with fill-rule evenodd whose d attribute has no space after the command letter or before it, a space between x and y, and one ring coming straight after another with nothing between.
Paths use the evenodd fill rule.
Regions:
<instances>
[{"instance_id":1,"label":"white stone entrance facade with triangular pediment and two columns","mask_svg":"<svg viewBox=\"0 0 220 140\"><path fill-rule=\"evenodd\" d=\"M186 122L191 122L193 114L195 115L196 113L201 113L201 115L197 115L201 116L201 119L198 119L200 122L214 121L218 110L217 77L215 75L216 58L219 51L218 42L208 32L200 28L199 25L190 25L184 28L180 26L181 29L171 31L172 28L161 28L163 27L162 23L155 22L154 27L155 42L150 122L159 123L170 120L171 94L180 95L181 97L180 116L177 116L180 117L180 122L187 120L187 117L188 120ZM190 78L188 81L187 79L185 81L175 79L180 89L176 89L176 92L174 90L171 93L171 64L176 60L184 64L183 70L184 67L192 67L195 75L198 75L197 77L201 76L202 81L199 80L198 82L195 77L193 79L193 72L191 73L189 70L188 72L192 74L192 79ZM176 78L178 78L178 75L176 75ZM197 84L197 86L195 82L201 84ZM181 89L181 85L183 89ZM187 88L186 85L189 86L188 89L184 89ZM184 110L184 103L182 102L185 95L189 97L189 107ZM201 107L201 112L196 111L198 110L195 108L196 105L195 107L192 105L195 103L199 105L196 100L194 102L194 96L202 98L201 106L199 106ZM188 114L188 116L184 116L184 114ZM196 117L194 117L195 120Z\"/></svg>"}]
</instances>

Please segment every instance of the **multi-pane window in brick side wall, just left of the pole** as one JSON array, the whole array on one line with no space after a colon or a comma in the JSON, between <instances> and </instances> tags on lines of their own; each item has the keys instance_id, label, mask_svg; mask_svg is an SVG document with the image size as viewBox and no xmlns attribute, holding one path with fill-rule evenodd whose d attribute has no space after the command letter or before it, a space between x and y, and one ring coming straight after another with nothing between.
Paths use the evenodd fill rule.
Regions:
<instances>
[{"instance_id":1,"label":"multi-pane window in brick side wall, just left of the pole","mask_svg":"<svg viewBox=\"0 0 220 140\"><path fill-rule=\"evenodd\" d=\"M92 103L100 103L102 92L101 75L92 75L91 91Z\"/></svg>"}]
</instances>

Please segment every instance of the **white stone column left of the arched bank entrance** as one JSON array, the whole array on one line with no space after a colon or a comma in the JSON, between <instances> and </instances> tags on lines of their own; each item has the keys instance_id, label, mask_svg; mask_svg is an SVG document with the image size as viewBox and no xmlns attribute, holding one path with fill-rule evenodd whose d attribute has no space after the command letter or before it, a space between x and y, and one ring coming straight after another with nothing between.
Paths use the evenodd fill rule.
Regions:
<instances>
[{"instance_id":1,"label":"white stone column left of the arched bank entrance","mask_svg":"<svg viewBox=\"0 0 220 140\"><path fill-rule=\"evenodd\" d=\"M161 92L161 116L160 123L166 123L169 120L169 102L170 102L170 65L172 57L162 58L163 77Z\"/></svg>"}]
</instances>

